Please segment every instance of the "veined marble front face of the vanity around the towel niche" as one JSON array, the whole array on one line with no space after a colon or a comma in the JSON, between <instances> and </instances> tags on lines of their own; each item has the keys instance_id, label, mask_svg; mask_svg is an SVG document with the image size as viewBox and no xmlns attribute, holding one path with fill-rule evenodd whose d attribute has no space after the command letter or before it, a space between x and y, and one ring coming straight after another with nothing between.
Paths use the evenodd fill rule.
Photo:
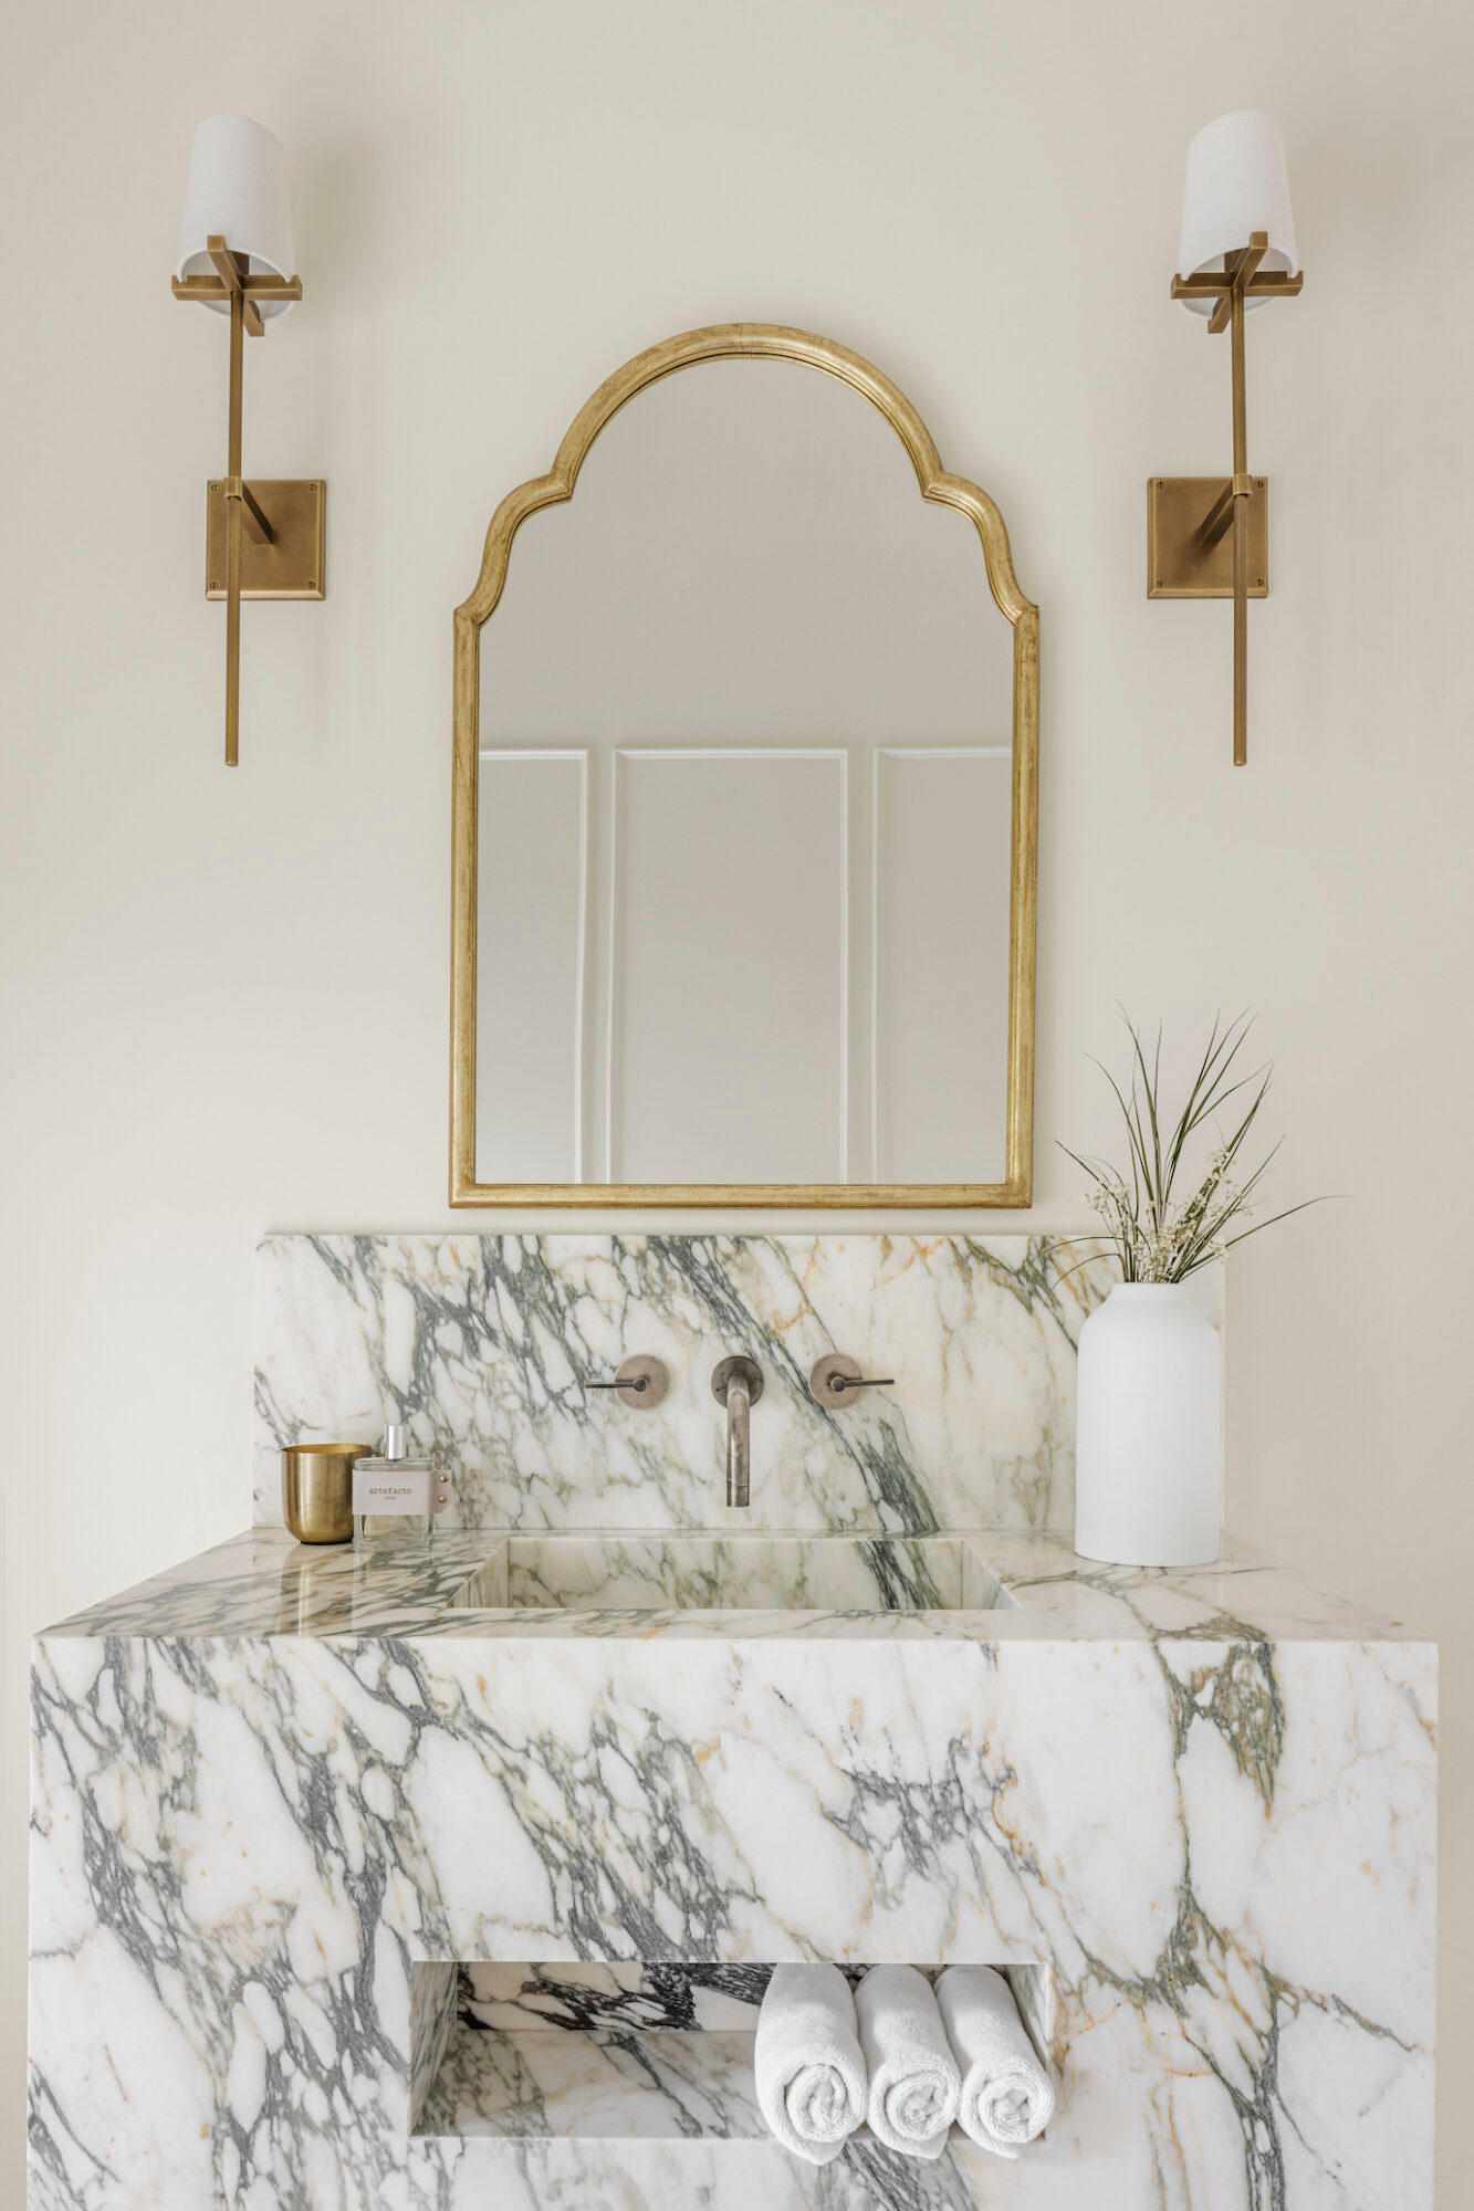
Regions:
<instances>
[{"instance_id":1,"label":"veined marble front face of the vanity around the towel niche","mask_svg":"<svg viewBox=\"0 0 1474 2211\"><path fill-rule=\"evenodd\" d=\"M1432 1780L1414 1643L51 1638L31 2211L443 2211L409 1961L620 1955L1047 1963L1060 2116L949 2211L1428 2211Z\"/></svg>"}]
</instances>

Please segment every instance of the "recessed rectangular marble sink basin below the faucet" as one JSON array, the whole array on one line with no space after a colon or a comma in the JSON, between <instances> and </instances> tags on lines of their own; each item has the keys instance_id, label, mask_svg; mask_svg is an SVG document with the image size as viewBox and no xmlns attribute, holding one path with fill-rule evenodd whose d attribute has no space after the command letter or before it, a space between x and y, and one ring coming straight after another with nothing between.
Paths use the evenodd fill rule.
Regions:
<instances>
[{"instance_id":1,"label":"recessed rectangular marble sink basin below the faucet","mask_svg":"<svg viewBox=\"0 0 1474 2211\"><path fill-rule=\"evenodd\" d=\"M987 1612L965 1537L513 1534L451 1599L536 1612Z\"/></svg>"}]
</instances>

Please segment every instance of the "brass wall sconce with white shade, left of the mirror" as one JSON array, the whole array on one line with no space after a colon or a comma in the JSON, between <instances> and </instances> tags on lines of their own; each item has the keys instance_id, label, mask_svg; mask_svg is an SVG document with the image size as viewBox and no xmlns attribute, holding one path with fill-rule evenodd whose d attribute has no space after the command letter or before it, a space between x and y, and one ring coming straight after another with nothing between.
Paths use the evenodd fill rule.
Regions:
<instances>
[{"instance_id":1,"label":"brass wall sconce with white shade, left of the mirror","mask_svg":"<svg viewBox=\"0 0 1474 2211\"><path fill-rule=\"evenodd\" d=\"M328 486L241 475L243 340L301 298L286 155L246 115L208 115L190 146L175 298L230 316L226 473L208 486L206 599L226 601L226 767L239 758L241 599L325 597Z\"/></svg>"}]
</instances>

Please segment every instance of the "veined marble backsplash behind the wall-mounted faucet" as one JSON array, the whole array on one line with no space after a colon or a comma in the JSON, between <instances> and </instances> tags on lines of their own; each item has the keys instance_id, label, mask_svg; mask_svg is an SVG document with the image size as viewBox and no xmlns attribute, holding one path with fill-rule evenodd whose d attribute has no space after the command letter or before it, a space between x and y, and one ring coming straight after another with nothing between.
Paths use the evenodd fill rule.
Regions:
<instances>
[{"instance_id":1,"label":"veined marble backsplash behind the wall-mounted faucet","mask_svg":"<svg viewBox=\"0 0 1474 2211\"><path fill-rule=\"evenodd\" d=\"M281 1521L283 1444L398 1419L460 1526L1062 1528L1076 1340L1111 1280L1047 1236L268 1236L255 1517ZM655 1411L589 1389L635 1351L671 1369ZM744 1515L710 1395L728 1351L766 1377ZM894 1386L819 1406L823 1351Z\"/></svg>"}]
</instances>

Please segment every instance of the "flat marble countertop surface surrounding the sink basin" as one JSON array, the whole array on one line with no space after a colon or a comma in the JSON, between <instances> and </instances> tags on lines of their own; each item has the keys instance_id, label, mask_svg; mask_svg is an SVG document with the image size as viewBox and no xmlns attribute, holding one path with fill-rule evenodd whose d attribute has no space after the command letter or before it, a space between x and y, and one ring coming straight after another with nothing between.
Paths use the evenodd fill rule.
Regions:
<instances>
[{"instance_id":1,"label":"flat marble countertop surface surrounding the sink basin","mask_svg":"<svg viewBox=\"0 0 1474 2211\"><path fill-rule=\"evenodd\" d=\"M697 1530L668 1530L691 1537ZM584 1636L845 1638L969 1643L1428 1643L1414 1630L1275 1565L1242 1543L1206 1568L1100 1565L1062 1534L965 1534L994 1570L1005 1603L976 1612L611 1612L491 1610L467 1603L467 1583L509 1534L458 1528L405 1559L308 1548L281 1528L252 1528L131 1590L44 1630L44 1638L370 1636L516 1641ZM589 1534L584 1530L584 1534ZM613 1532L611 1532L613 1534ZM660 1530L637 1530L642 1541ZM724 1541L744 1541L719 1530Z\"/></svg>"}]
</instances>

